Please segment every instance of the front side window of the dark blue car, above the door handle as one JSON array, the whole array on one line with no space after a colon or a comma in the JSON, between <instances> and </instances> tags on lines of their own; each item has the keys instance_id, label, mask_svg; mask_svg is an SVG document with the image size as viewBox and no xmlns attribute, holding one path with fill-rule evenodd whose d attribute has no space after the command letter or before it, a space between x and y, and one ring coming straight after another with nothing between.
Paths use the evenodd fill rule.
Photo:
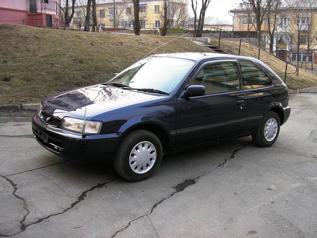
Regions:
<instances>
[{"instance_id":1,"label":"front side window of the dark blue car, above the door handle","mask_svg":"<svg viewBox=\"0 0 317 238\"><path fill-rule=\"evenodd\" d=\"M239 90L237 63L223 62L207 64L190 85L203 85L206 95Z\"/></svg>"}]
</instances>

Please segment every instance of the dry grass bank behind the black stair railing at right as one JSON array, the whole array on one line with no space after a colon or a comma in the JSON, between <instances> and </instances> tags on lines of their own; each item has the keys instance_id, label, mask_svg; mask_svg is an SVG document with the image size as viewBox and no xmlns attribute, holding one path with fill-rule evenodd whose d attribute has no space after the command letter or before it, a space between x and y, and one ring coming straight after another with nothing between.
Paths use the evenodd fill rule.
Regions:
<instances>
[{"instance_id":1,"label":"dry grass bank behind the black stair railing at right","mask_svg":"<svg viewBox=\"0 0 317 238\"><path fill-rule=\"evenodd\" d=\"M213 40L212 43L214 45L218 45L217 40ZM238 41L221 41L220 48L230 54L238 55L239 42ZM241 56L249 56L258 58L258 48L248 44L242 43L240 55ZM286 62L276 59L275 57L261 51L260 60L264 61L268 64L282 79L284 79L284 72ZM287 76L286 76L286 84L291 89L300 89L300 88L308 88L317 86L317 75L310 72L305 71L305 69L299 69L299 75L290 74L295 72L296 68L290 64L287 66Z\"/></svg>"}]
</instances>

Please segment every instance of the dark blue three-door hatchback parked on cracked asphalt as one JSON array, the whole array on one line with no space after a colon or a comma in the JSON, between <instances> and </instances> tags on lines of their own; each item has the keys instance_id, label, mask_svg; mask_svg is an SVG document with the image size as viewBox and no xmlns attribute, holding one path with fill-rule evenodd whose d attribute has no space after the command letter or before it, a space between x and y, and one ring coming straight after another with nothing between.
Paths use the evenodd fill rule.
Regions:
<instances>
[{"instance_id":1,"label":"dark blue three-door hatchback parked on cracked asphalt","mask_svg":"<svg viewBox=\"0 0 317 238\"><path fill-rule=\"evenodd\" d=\"M139 181L166 153L248 135L270 146L289 115L285 83L262 61L175 53L140 60L108 83L44 99L32 129L54 154L110 160L120 176Z\"/></svg>"}]
</instances>

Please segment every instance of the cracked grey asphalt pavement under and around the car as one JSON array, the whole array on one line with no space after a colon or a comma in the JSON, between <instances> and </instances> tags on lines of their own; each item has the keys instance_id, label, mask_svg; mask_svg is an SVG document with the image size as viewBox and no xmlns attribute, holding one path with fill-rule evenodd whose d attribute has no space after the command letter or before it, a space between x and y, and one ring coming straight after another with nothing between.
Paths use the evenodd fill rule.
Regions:
<instances>
[{"instance_id":1,"label":"cracked grey asphalt pavement under and around the car","mask_svg":"<svg viewBox=\"0 0 317 238\"><path fill-rule=\"evenodd\" d=\"M164 156L120 179L33 138L30 113L0 113L0 237L316 238L317 94L293 94L270 148L251 136Z\"/></svg>"}]
</instances>

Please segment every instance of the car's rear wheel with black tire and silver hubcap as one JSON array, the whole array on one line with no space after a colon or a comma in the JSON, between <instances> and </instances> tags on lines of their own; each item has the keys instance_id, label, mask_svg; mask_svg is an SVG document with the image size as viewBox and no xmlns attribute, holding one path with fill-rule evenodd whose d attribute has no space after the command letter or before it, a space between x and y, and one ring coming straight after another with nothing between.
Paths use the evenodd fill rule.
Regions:
<instances>
[{"instance_id":1,"label":"car's rear wheel with black tire and silver hubcap","mask_svg":"<svg viewBox=\"0 0 317 238\"><path fill-rule=\"evenodd\" d=\"M265 126L266 123L269 123L269 124ZM277 140L280 126L281 126L280 119L275 112L270 111L266 113L259 126L257 133L252 135L253 142L257 146L260 146L260 147L271 146ZM264 130L264 127L269 128L269 130Z\"/></svg>"}]
</instances>

